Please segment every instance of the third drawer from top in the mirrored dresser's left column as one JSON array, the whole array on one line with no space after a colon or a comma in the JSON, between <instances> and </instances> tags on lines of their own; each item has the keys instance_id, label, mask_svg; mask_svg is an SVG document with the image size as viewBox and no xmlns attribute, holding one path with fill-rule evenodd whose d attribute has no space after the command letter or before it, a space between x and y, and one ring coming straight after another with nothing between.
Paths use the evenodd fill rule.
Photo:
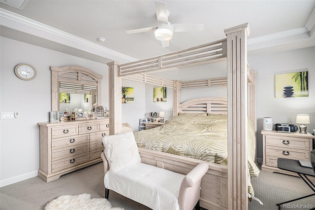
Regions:
<instances>
[{"instance_id":1,"label":"third drawer from top in the mirrored dresser's left column","mask_svg":"<svg viewBox=\"0 0 315 210\"><path fill-rule=\"evenodd\" d=\"M74 145L73 147L55 149L52 152L52 161L60 160L66 157L74 156L74 155L83 154L86 152L90 152L89 143Z\"/></svg>"}]
</instances>

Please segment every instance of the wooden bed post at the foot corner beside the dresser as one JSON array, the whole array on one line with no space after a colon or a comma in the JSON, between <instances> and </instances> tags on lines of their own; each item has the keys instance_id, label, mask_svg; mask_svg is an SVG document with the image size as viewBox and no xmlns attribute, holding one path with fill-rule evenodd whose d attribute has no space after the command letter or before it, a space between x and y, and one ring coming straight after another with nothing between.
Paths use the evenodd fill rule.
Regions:
<instances>
[{"instance_id":1,"label":"wooden bed post at the foot corner beside the dresser","mask_svg":"<svg viewBox=\"0 0 315 210\"><path fill-rule=\"evenodd\" d=\"M107 63L109 80L109 135L122 133L122 78L118 76L118 65L120 63L115 61Z\"/></svg>"}]
</instances>

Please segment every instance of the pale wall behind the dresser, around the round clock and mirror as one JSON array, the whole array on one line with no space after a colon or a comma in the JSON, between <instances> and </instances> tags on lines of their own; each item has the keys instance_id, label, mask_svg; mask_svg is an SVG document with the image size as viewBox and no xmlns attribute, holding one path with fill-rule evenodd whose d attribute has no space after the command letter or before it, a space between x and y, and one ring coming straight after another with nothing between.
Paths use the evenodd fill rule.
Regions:
<instances>
[{"instance_id":1,"label":"pale wall behind the dresser, around the round clock and mirror","mask_svg":"<svg viewBox=\"0 0 315 210\"><path fill-rule=\"evenodd\" d=\"M108 106L108 67L86 59L0 36L0 111L19 111L17 119L0 120L0 186L37 176L39 169L38 122L49 121L50 66L82 66L103 76L102 105ZM14 68L31 64L37 75L19 79Z\"/></svg>"}]
</instances>

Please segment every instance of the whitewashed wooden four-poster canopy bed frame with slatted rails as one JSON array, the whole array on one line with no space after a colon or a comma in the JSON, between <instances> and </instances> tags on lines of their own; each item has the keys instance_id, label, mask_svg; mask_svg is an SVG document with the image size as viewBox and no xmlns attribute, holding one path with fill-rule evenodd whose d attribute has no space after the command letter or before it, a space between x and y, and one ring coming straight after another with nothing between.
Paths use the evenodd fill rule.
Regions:
<instances>
[{"instance_id":1,"label":"whitewashed wooden four-poster canopy bed frame with slatted rails","mask_svg":"<svg viewBox=\"0 0 315 210\"><path fill-rule=\"evenodd\" d=\"M247 117L249 117L256 131L256 72L252 71L247 62L247 36L250 34L249 25L243 24L224 30L227 38L215 42L191 47L189 49L161 55L154 58L120 64L108 63L109 67L109 110L110 135L122 132L122 79L145 82L173 89L173 115L183 110L206 111L212 113L227 113L228 115L228 166L209 163L209 174L221 177L216 181L219 186L208 186L212 194L211 201L201 196L200 206L214 210L246 210L248 209L248 158L247 158ZM188 82L172 81L158 78L148 72L196 66L211 61L226 58L227 77L203 79ZM199 98L189 100L189 103L180 105L180 89L211 87L227 85L227 99ZM199 100L199 101L198 101ZM217 102L220 101L220 103ZM197 105L196 105L197 104ZM167 168L171 163L184 165L194 164L199 160L188 160L176 155L162 155L157 151L148 151L139 148L142 161ZM187 165L187 164L186 164ZM174 167L169 167L170 170ZM192 168L192 166L190 167ZM179 169L179 173L184 173ZM208 177L208 176L207 176ZM203 178L207 179L207 178ZM212 179L212 176L209 176ZM209 183L215 185L214 180ZM218 185L218 183L217 183ZM202 187L202 186L201 186ZM211 189L218 191L211 191ZM220 191L221 188L221 191ZM217 198L213 194L221 194ZM217 200L215 200L216 198Z\"/></svg>"}]
</instances>

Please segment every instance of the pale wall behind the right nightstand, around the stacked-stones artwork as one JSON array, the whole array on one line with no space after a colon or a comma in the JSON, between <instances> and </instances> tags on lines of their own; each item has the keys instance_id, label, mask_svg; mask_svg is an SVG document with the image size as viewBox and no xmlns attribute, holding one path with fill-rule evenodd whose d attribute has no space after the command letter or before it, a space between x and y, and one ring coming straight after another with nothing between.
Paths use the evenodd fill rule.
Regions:
<instances>
[{"instance_id":1,"label":"pale wall behind the right nightstand, around the stacked-stones artwork","mask_svg":"<svg viewBox=\"0 0 315 210\"><path fill-rule=\"evenodd\" d=\"M315 129L315 47L291 50L248 58L252 70L257 70L257 160L262 158L263 117L272 117L273 123L293 124L297 114L309 114L311 124L307 131ZM274 75L295 72L301 69L309 71L309 97L275 98ZM299 126L299 125L297 125Z\"/></svg>"}]
</instances>

